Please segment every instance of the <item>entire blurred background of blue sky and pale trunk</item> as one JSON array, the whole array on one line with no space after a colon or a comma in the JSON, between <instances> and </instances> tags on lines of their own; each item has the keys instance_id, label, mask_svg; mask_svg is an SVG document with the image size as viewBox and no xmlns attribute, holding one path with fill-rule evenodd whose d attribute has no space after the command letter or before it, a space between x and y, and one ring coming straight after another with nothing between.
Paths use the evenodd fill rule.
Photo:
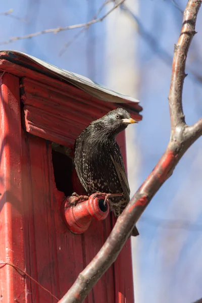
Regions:
<instances>
[{"instance_id":1,"label":"entire blurred background of blue sky and pale trunk","mask_svg":"<svg viewBox=\"0 0 202 303\"><path fill-rule=\"evenodd\" d=\"M170 137L168 93L184 0L7 0L0 47L24 52L140 99L143 120L127 130L131 195L162 156ZM12 9L12 10L10 10ZM202 115L202 9L189 49L183 107L188 124ZM32 38L20 37L39 32ZM13 39L12 37L19 37ZM202 140L187 151L137 223L132 240L136 303L191 303L202 297Z\"/></svg>"}]
</instances>

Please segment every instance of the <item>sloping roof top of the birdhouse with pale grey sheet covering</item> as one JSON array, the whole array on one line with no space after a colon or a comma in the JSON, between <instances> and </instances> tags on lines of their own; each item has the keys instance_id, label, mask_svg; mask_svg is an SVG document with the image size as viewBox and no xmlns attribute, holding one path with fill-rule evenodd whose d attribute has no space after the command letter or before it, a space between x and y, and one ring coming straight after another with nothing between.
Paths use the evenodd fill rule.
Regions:
<instances>
[{"instance_id":1,"label":"sloping roof top of the birdhouse with pale grey sheet covering","mask_svg":"<svg viewBox=\"0 0 202 303\"><path fill-rule=\"evenodd\" d=\"M137 112L141 111L141 107L138 106L139 101L137 99L115 92L112 89L93 82L87 77L58 68L33 56L17 51L0 51L0 60L4 59L40 72L46 76L62 80L66 83L71 83L98 99L112 103L127 103L131 106L131 109L136 110Z\"/></svg>"}]
</instances>

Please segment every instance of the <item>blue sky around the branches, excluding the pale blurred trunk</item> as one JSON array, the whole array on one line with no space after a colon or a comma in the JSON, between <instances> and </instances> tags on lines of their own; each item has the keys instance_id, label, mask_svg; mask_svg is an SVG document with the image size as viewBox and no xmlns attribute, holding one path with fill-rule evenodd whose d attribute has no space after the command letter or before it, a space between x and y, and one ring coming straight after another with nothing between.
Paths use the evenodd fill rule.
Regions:
<instances>
[{"instance_id":1,"label":"blue sky around the branches, excluding the pale blurred trunk","mask_svg":"<svg viewBox=\"0 0 202 303\"><path fill-rule=\"evenodd\" d=\"M12 8L13 14L27 20L27 23L0 16L0 42L47 28L87 22L101 4L100 0L7 0L1 4L1 12ZM178 1L178 5L184 10L186 1ZM172 0L139 0L138 18L160 48L172 56L182 22L182 14ZM187 61L187 66L200 75L201 21L202 11L197 19L198 34L194 37ZM94 24L62 56L59 53L64 43L70 41L78 30L40 35L1 45L1 48L28 53L106 84L106 30L105 21ZM139 36L138 42L138 97L143 106L143 120L138 124L136 138L141 153L140 185L156 165L169 141L171 63L162 60L162 51L157 47L155 51L151 49L142 36ZM186 122L192 124L202 113L202 83L194 80L188 69L187 73L183 107ZM139 280L137 303L191 303L202 297L202 254L199 252L202 246L201 147L202 140L199 139L187 151L173 176L155 195L137 224L140 231L136 240L138 257L134 265ZM174 220L174 227L171 220Z\"/></svg>"}]
</instances>

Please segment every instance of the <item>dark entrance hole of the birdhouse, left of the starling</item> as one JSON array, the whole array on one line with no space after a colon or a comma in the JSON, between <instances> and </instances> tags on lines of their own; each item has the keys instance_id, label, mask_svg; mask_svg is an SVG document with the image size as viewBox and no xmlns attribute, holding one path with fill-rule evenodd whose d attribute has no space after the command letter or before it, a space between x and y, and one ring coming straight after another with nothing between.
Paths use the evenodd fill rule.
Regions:
<instances>
[{"instance_id":1,"label":"dark entrance hole of the birdhouse, left of the starling","mask_svg":"<svg viewBox=\"0 0 202 303\"><path fill-rule=\"evenodd\" d=\"M57 189L63 191L65 196L71 195L73 161L66 155L65 146L52 143L52 162Z\"/></svg>"}]
</instances>

